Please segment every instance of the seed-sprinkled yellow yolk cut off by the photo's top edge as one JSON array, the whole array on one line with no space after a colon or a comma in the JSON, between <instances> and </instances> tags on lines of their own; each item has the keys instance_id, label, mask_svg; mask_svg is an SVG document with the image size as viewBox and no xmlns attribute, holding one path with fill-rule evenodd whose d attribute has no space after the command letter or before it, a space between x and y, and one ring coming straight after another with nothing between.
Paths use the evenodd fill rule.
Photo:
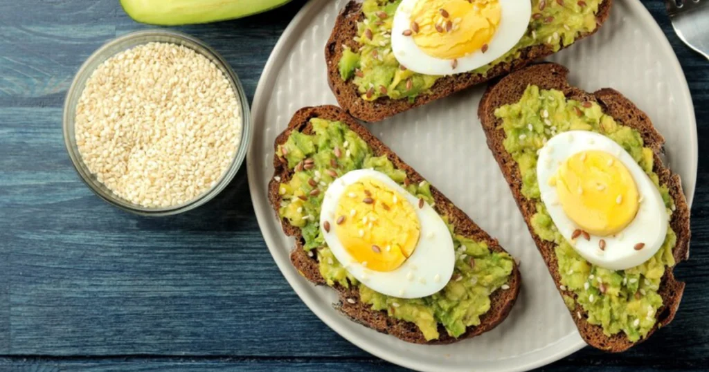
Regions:
<instances>
[{"instance_id":1,"label":"seed-sprinkled yellow yolk cut off by the photo's top edge","mask_svg":"<svg viewBox=\"0 0 709 372\"><path fill-rule=\"evenodd\" d=\"M420 0L411 13L413 40L427 55L453 60L484 51L501 17L498 0Z\"/></svg>"}]
</instances>

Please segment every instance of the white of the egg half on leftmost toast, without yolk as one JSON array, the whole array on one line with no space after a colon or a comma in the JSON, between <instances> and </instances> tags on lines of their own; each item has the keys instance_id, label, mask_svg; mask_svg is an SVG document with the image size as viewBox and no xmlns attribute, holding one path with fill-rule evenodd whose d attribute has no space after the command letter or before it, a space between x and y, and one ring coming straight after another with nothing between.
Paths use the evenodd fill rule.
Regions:
<instances>
[{"instance_id":1,"label":"white of the egg half on leftmost toast, without yolk","mask_svg":"<svg viewBox=\"0 0 709 372\"><path fill-rule=\"evenodd\" d=\"M420 221L420 238L411 257L394 271L374 271L354 260L342 246L335 234L337 203L343 197L347 186L362 178L380 181L405 197L413 205ZM345 196L346 197L346 196ZM330 232L325 232L325 221L330 223ZM455 253L453 239L447 225L433 208L424 203L418 208L418 199L396 184L389 176L373 169L359 169L347 172L333 181L325 192L323 208L320 211L320 232L325 242L345 269L358 281L374 291L398 298L421 298L432 295L446 286L453 275Z\"/></svg>"}]
</instances>

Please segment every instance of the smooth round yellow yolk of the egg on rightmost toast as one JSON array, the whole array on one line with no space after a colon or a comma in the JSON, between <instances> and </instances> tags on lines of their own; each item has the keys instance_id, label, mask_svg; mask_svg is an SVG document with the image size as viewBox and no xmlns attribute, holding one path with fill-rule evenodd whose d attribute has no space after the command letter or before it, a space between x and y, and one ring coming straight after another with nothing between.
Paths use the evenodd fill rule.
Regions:
<instances>
[{"instance_id":1,"label":"smooth round yellow yolk of the egg on rightmost toast","mask_svg":"<svg viewBox=\"0 0 709 372\"><path fill-rule=\"evenodd\" d=\"M566 159L556 179L559 203L579 229L608 236L637 214L638 193L630 171L607 152L588 150Z\"/></svg>"}]
</instances>

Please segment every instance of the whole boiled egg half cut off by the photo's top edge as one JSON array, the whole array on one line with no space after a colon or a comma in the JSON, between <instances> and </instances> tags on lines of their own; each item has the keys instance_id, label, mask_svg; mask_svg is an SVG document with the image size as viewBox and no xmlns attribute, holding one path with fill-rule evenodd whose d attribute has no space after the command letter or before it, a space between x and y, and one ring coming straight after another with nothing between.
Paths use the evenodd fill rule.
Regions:
<instances>
[{"instance_id":1,"label":"whole boiled egg half cut off by the photo's top edge","mask_svg":"<svg viewBox=\"0 0 709 372\"><path fill-rule=\"evenodd\" d=\"M403 0L391 49L413 72L449 75L489 64L527 32L530 0Z\"/></svg>"}]
</instances>

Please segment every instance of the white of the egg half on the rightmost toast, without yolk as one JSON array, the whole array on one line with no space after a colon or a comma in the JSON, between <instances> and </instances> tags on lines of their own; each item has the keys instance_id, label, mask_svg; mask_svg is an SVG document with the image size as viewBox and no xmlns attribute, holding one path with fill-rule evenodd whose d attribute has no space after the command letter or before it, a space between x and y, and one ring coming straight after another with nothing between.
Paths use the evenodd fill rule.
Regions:
<instances>
[{"instance_id":1,"label":"white of the egg half on the rightmost toast, without yolk","mask_svg":"<svg viewBox=\"0 0 709 372\"><path fill-rule=\"evenodd\" d=\"M571 235L579 227L564 213L562 205L559 204L557 190L554 186L549 186L549 179L557 174L557 169L566 159L587 150L600 150L618 158L635 179L642 202L635 219L620 233L608 237L591 235L590 240L579 237L574 243ZM542 201L554 225L557 225L559 232L571 242L576 252L591 264L610 270L630 269L650 259L664 242L669 218L659 190L630 154L604 135L571 130L552 137L540 151L537 161L537 181ZM605 240L605 250L598 247L601 239ZM634 247L640 242L645 246L637 251Z\"/></svg>"}]
</instances>

